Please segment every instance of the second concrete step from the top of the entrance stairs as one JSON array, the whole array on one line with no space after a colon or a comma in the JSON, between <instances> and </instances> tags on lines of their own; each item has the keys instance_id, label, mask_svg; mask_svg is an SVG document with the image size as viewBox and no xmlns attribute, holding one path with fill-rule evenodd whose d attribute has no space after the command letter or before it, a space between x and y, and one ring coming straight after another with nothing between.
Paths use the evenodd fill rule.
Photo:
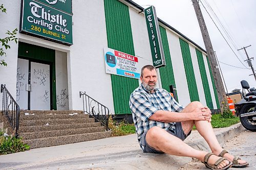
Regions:
<instances>
[{"instance_id":1,"label":"second concrete step from the top of the entrance stairs","mask_svg":"<svg viewBox=\"0 0 256 170\"><path fill-rule=\"evenodd\" d=\"M36 120L36 119L76 119L89 118L89 114L35 114L35 115L20 115L19 120Z\"/></svg>"}]
</instances>

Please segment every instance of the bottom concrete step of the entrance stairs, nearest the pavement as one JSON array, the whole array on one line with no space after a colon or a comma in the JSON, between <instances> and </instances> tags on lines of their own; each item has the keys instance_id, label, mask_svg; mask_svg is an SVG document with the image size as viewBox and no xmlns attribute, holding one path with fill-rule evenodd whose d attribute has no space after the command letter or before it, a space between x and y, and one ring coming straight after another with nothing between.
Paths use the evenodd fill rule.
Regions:
<instances>
[{"instance_id":1,"label":"bottom concrete step of the entrance stairs, nearest the pavement","mask_svg":"<svg viewBox=\"0 0 256 170\"><path fill-rule=\"evenodd\" d=\"M111 131L104 131L104 132L84 133L84 134L78 134L78 135L24 140L24 142L29 144L31 149L33 149L33 148L51 147L51 146L61 145L61 144L102 139L110 136L111 136Z\"/></svg>"}]
</instances>

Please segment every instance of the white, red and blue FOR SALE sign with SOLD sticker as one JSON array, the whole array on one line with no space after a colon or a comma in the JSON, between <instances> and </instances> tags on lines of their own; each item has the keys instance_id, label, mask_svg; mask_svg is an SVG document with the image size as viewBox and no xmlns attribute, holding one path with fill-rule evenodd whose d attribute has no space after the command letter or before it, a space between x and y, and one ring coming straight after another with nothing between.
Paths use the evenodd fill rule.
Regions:
<instances>
[{"instance_id":1,"label":"white, red and blue FOR SALE sign with SOLD sticker","mask_svg":"<svg viewBox=\"0 0 256 170\"><path fill-rule=\"evenodd\" d=\"M139 59L138 57L104 48L104 60L106 73L139 79Z\"/></svg>"}]
</instances>

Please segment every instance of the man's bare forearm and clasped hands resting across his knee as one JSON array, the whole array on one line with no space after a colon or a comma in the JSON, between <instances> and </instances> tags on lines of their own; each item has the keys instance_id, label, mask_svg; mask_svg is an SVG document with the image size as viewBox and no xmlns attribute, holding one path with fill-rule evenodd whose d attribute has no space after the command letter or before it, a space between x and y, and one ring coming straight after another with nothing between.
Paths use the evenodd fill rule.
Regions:
<instances>
[{"instance_id":1,"label":"man's bare forearm and clasped hands resting across his knee","mask_svg":"<svg viewBox=\"0 0 256 170\"><path fill-rule=\"evenodd\" d=\"M170 112L158 110L152 116L150 116L151 120L156 120L158 122L183 122L187 120L206 120L210 122L211 120L211 112L207 107L196 108L193 112L184 113L184 112Z\"/></svg>"}]
</instances>

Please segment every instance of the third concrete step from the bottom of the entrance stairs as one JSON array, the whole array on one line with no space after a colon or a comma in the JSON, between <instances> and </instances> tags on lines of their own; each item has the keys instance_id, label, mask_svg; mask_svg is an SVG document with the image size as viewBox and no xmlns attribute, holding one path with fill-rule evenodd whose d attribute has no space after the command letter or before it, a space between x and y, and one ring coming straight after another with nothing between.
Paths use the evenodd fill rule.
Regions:
<instances>
[{"instance_id":1,"label":"third concrete step from the bottom of the entrance stairs","mask_svg":"<svg viewBox=\"0 0 256 170\"><path fill-rule=\"evenodd\" d=\"M79 128L89 128L89 127L100 127L99 122L93 123L82 123L82 124L61 124L61 125L50 125L49 126L20 126L19 133L26 132L40 132L40 131L50 131L50 130L65 130L65 129L79 129Z\"/></svg>"}]
</instances>

